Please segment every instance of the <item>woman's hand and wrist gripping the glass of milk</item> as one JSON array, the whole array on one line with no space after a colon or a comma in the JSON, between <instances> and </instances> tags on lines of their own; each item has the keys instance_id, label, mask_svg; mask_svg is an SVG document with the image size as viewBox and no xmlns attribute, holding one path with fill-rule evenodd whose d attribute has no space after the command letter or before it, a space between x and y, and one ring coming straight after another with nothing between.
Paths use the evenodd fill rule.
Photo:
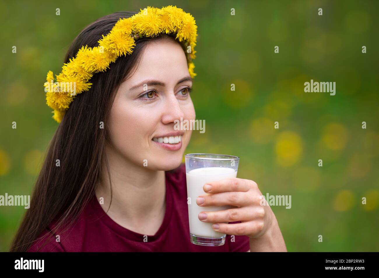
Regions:
<instances>
[{"instance_id":1,"label":"woman's hand and wrist gripping the glass of milk","mask_svg":"<svg viewBox=\"0 0 379 278\"><path fill-rule=\"evenodd\" d=\"M268 203L262 200L263 196L257 183L247 179L231 178L209 182L203 189L207 194L200 195L196 199L197 205L204 207L205 210L199 213L198 217L201 221L215 223L212 228L219 233L248 236L251 248L258 242L262 242L273 248L275 245L276 250L279 244L281 251L287 251L276 217ZM261 205L261 203L266 205ZM224 205L235 208L206 211L207 206ZM235 221L241 221L241 223L222 223Z\"/></svg>"}]
</instances>

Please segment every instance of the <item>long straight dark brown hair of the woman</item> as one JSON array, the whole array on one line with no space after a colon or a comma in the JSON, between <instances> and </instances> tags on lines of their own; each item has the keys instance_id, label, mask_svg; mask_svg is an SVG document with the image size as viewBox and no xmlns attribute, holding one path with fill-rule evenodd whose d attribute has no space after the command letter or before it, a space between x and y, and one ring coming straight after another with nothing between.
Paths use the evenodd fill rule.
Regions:
<instances>
[{"instance_id":1,"label":"long straight dark brown hair of the woman","mask_svg":"<svg viewBox=\"0 0 379 278\"><path fill-rule=\"evenodd\" d=\"M119 18L128 18L133 14L135 12L115 12L88 25L70 45L65 63L75 56L82 45L97 46L98 40L111 31ZM132 54L119 57L110 69L93 75L91 89L77 95L70 104L50 142L30 208L23 217L10 251L29 250L53 220L57 222L49 238L63 224L68 223L68 228L77 219L101 181L103 161L109 173L104 146L108 140L107 121L115 93L122 81L138 66L147 43L165 38L175 40L166 34L136 40ZM104 123L105 128L99 128L100 122ZM57 159L60 160L59 167L56 166Z\"/></svg>"}]
</instances>

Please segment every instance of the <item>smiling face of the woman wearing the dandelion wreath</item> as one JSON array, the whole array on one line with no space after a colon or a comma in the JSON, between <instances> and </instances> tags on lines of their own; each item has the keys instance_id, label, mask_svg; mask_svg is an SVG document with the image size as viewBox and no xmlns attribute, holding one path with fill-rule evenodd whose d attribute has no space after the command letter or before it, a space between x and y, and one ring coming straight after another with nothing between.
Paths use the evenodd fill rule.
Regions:
<instances>
[{"instance_id":1,"label":"smiling face of the woman wearing the dandelion wreath","mask_svg":"<svg viewBox=\"0 0 379 278\"><path fill-rule=\"evenodd\" d=\"M192 132L175 130L174 121L196 118L189 95L192 79L182 47L172 40L150 42L140 60L116 93L111 144L116 155L133 164L168 171L182 162Z\"/></svg>"}]
</instances>

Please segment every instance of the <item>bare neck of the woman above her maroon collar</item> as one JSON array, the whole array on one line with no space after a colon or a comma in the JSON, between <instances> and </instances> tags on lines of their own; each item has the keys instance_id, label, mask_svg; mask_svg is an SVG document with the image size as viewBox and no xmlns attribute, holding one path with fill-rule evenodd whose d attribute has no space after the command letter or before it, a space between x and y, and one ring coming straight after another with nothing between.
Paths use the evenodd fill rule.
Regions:
<instances>
[{"instance_id":1,"label":"bare neck of the woman above her maroon collar","mask_svg":"<svg viewBox=\"0 0 379 278\"><path fill-rule=\"evenodd\" d=\"M153 235L160 227L166 209L164 171L151 171L125 160L119 152L106 146L108 171L103 162L102 182L96 188L96 197L104 197L103 210L117 224L138 233Z\"/></svg>"}]
</instances>

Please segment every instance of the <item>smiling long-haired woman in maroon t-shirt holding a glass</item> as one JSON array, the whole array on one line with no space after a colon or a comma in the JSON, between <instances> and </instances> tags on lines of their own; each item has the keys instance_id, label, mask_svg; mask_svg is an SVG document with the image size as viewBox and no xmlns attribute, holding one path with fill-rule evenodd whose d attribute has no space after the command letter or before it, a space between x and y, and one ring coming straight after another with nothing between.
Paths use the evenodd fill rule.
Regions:
<instances>
[{"instance_id":1,"label":"smiling long-haired woman in maroon t-shirt holding a glass","mask_svg":"<svg viewBox=\"0 0 379 278\"><path fill-rule=\"evenodd\" d=\"M167 11L171 14L164 14ZM11 251L287 251L273 211L260 205L257 184L238 178L210 183L211 189L204 188L208 194L196 200L206 216L200 214L199 219L219 223L214 228L227 234L225 244L209 247L190 242L182 158L191 130L174 130L174 121L196 117L190 96L194 51L187 51L188 45L196 45L196 36L185 43L189 14L182 9L148 7L138 13L139 18L133 14L102 17L71 44L65 59L67 76L67 64L78 50L85 51L86 45L98 50L99 40L104 43L107 34L116 37L108 46L114 45L119 57L114 59L109 54L112 48L105 47L113 59L109 68L92 75L90 68L100 67L99 60L72 70L75 76L79 71L81 76L88 74L91 86L88 92L74 95L69 109L58 106L67 95L50 98L47 91L47 104L55 107L54 119L60 124ZM161 17L163 22L164 16L171 25L159 34L149 33L154 20ZM140 20L141 29L150 26L133 29L132 50L111 31L125 23L119 20L129 18ZM127 53L121 55L122 51ZM220 205L234 207L207 212L207 206Z\"/></svg>"}]
</instances>

